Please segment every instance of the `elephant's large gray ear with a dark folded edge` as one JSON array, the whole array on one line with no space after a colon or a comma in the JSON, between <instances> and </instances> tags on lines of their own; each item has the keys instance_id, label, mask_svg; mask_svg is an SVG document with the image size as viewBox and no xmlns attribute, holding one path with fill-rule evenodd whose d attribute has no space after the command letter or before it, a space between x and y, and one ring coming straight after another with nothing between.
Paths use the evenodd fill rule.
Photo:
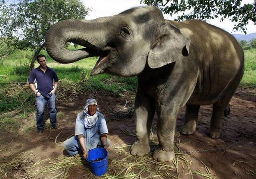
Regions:
<instances>
[{"instance_id":1,"label":"elephant's large gray ear with a dark folded edge","mask_svg":"<svg viewBox=\"0 0 256 179\"><path fill-rule=\"evenodd\" d=\"M162 67L188 56L190 39L184 37L178 28L165 21L161 35L148 53L148 66L152 69Z\"/></svg>"}]
</instances>

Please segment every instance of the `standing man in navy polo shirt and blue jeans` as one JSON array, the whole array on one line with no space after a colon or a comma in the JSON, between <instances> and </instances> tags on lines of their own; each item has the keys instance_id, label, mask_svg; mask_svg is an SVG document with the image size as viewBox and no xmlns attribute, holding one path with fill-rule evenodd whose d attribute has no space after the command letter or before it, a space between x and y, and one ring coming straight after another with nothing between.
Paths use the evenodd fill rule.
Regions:
<instances>
[{"instance_id":1,"label":"standing man in navy polo shirt and blue jeans","mask_svg":"<svg viewBox=\"0 0 256 179\"><path fill-rule=\"evenodd\" d=\"M36 126L37 132L42 133L44 130L45 118L44 108L47 102L50 109L51 125L54 129L58 128L57 124L57 110L55 106L55 91L58 87L58 76L56 71L50 67L47 67L46 57L44 55L38 55L37 61L40 64L39 67L32 70L29 76L29 86L36 94ZM54 85L53 85L54 79ZM34 87L34 81L36 80L37 89Z\"/></svg>"}]
</instances>

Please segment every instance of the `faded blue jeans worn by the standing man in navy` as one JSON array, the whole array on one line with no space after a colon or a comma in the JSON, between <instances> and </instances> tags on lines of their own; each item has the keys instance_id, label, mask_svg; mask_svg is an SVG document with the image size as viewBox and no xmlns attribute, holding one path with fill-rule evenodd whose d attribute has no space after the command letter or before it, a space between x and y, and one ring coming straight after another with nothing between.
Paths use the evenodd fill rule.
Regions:
<instances>
[{"instance_id":1,"label":"faded blue jeans worn by the standing man in navy","mask_svg":"<svg viewBox=\"0 0 256 179\"><path fill-rule=\"evenodd\" d=\"M57 110L55 106L55 94L52 96L44 97L42 94L40 96L36 96L36 126L37 129L43 129L45 124L44 118L44 108L48 104L50 110L50 120L52 126L57 126Z\"/></svg>"}]
</instances>

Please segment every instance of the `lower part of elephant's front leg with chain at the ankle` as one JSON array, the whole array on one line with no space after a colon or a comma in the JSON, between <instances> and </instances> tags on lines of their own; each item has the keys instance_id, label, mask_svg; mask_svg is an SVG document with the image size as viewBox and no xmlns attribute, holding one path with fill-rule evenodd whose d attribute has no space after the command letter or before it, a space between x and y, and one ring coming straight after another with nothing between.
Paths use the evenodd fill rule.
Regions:
<instances>
[{"instance_id":1,"label":"lower part of elephant's front leg with chain at the ankle","mask_svg":"<svg viewBox=\"0 0 256 179\"><path fill-rule=\"evenodd\" d=\"M160 148L156 149L153 159L160 162L171 161L174 159L174 133L176 116L158 115L157 136Z\"/></svg>"}]
</instances>

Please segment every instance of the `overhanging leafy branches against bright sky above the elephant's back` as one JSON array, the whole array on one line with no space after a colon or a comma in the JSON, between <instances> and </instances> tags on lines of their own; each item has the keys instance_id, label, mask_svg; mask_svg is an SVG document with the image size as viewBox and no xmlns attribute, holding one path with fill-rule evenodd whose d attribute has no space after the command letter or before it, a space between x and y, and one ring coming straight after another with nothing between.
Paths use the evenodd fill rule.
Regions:
<instances>
[{"instance_id":1,"label":"overhanging leafy branches against bright sky above the elephant's back","mask_svg":"<svg viewBox=\"0 0 256 179\"><path fill-rule=\"evenodd\" d=\"M175 20L230 18L235 22L233 30L242 30L249 20L256 24L256 0L251 4L241 5L242 0L141 0L147 5L157 6L165 14L182 12Z\"/></svg>"}]
</instances>

